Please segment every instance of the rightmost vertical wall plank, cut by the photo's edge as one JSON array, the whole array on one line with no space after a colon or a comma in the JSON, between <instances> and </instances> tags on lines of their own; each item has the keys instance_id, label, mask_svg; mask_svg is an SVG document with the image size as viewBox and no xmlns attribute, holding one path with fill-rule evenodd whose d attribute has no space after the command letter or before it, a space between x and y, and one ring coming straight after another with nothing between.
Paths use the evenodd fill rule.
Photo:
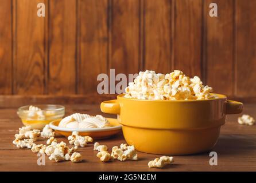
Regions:
<instances>
[{"instance_id":1,"label":"rightmost vertical wall plank, cut by the photo's edge","mask_svg":"<svg viewBox=\"0 0 256 183\"><path fill-rule=\"evenodd\" d=\"M237 96L256 96L256 1L235 3L236 67L235 79Z\"/></svg>"}]
</instances>

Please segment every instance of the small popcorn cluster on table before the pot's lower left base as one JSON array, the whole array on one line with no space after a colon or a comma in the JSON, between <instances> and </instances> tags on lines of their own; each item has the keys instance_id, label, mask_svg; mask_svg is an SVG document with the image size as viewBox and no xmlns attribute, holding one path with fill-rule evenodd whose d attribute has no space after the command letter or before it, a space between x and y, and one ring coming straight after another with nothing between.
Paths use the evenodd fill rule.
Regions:
<instances>
[{"instance_id":1,"label":"small popcorn cluster on table before the pot's lower left base","mask_svg":"<svg viewBox=\"0 0 256 183\"><path fill-rule=\"evenodd\" d=\"M121 144L120 148L118 148L118 146L114 146L110 154L107 152L106 145L100 145L98 142L95 142L94 150L99 151L97 157L103 162L110 161L112 159L119 161L138 160L138 154L133 145L127 146L127 144Z\"/></svg>"}]
</instances>

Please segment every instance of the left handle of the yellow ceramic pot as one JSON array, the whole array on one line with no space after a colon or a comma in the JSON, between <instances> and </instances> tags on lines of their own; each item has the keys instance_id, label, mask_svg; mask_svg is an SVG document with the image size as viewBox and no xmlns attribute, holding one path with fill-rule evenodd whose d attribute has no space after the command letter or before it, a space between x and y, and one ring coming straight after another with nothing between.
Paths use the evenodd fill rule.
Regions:
<instances>
[{"instance_id":1,"label":"left handle of the yellow ceramic pot","mask_svg":"<svg viewBox=\"0 0 256 183\"><path fill-rule=\"evenodd\" d=\"M119 114L120 113L120 105L117 100L104 101L100 104L100 110L103 113Z\"/></svg>"}]
</instances>

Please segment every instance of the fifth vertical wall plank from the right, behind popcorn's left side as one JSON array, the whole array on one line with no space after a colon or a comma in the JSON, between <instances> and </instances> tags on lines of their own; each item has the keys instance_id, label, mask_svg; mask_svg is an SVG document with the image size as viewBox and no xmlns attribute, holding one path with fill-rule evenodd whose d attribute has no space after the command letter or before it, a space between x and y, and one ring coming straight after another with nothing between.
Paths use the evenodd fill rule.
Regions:
<instances>
[{"instance_id":1,"label":"fifth vertical wall plank from the right, behind popcorn's left side","mask_svg":"<svg viewBox=\"0 0 256 183\"><path fill-rule=\"evenodd\" d=\"M114 0L111 4L110 69L115 73L139 71L139 1Z\"/></svg>"}]
</instances>

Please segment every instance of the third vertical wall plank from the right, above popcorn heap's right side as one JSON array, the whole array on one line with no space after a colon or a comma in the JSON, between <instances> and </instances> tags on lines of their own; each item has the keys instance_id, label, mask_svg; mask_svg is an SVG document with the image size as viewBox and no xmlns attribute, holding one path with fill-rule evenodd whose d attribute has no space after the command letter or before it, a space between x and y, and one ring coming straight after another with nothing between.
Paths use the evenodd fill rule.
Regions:
<instances>
[{"instance_id":1,"label":"third vertical wall plank from the right, above popcorn heap's right side","mask_svg":"<svg viewBox=\"0 0 256 183\"><path fill-rule=\"evenodd\" d=\"M174 2L174 69L201 77L202 1Z\"/></svg>"}]
</instances>

